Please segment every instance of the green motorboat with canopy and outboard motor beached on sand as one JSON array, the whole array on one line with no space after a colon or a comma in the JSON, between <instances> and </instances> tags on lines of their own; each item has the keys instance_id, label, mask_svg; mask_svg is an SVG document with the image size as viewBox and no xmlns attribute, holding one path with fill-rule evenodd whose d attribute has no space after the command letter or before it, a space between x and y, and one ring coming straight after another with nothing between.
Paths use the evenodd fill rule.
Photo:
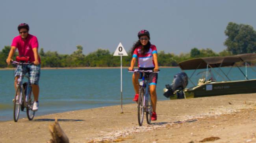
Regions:
<instances>
[{"instance_id":1,"label":"green motorboat with canopy and outboard motor beached on sand","mask_svg":"<svg viewBox=\"0 0 256 143\"><path fill-rule=\"evenodd\" d=\"M255 62L255 53L195 58L180 62L178 65L182 72L174 76L171 85L165 85L164 96L170 99L182 99L255 93L256 70L254 69L255 65L253 66ZM250 74L252 78L249 77L248 68L254 72ZM190 71L191 75L187 76L186 71ZM199 72L197 73L197 71ZM231 74L234 77L243 78L232 80L229 77ZM192 78L193 76L199 78ZM189 82L193 86L186 88Z\"/></svg>"}]
</instances>

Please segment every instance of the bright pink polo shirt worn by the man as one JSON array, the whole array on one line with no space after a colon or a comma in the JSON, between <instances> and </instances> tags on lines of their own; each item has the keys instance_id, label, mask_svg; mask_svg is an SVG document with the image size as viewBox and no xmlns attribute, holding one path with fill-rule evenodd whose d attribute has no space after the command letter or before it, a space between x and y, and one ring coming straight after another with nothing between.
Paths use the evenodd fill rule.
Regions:
<instances>
[{"instance_id":1,"label":"bright pink polo shirt worn by the man","mask_svg":"<svg viewBox=\"0 0 256 143\"><path fill-rule=\"evenodd\" d=\"M36 36L28 34L28 37L26 38L25 41L22 40L20 35L16 36L15 38L13 38L13 43L11 44L11 46L18 48L19 56L29 56L30 62L35 61L35 57L32 49L38 48L38 41ZM38 60L39 60L39 63L41 63L41 59L39 55L38 55Z\"/></svg>"}]
</instances>

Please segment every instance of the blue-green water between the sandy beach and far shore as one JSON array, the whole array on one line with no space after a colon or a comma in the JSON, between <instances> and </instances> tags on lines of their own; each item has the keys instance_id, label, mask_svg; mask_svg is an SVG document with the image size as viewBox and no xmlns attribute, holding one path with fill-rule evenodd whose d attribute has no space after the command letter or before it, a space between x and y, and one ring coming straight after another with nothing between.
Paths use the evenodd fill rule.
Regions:
<instances>
[{"instance_id":1,"label":"blue-green water between the sandy beach and far shore","mask_svg":"<svg viewBox=\"0 0 256 143\"><path fill-rule=\"evenodd\" d=\"M158 100L169 100L163 96L165 84L171 84L179 68L162 68L158 76ZM228 72L227 68L223 68ZM242 68L245 71L244 68ZM248 77L256 78L250 68ZM198 72L203 70L198 70ZM193 71L187 71L190 76ZM15 91L13 70L0 70L0 121L13 118ZM133 103L134 89L132 72L123 69L123 103ZM196 72L197 73L197 72ZM229 76L234 80L243 80L238 69L232 69ZM215 75L215 78L216 75ZM192 78L196 83L197 79ZM222 79L220 79L222 81ZM120 69L42 69L39 81L39 111L36 116L65 112L69 110L90 109L95 107L120 105ZM189 82L187 87L193 86ZM26 118L21 112L20 118Z\"/></svg>"}]
</instances>

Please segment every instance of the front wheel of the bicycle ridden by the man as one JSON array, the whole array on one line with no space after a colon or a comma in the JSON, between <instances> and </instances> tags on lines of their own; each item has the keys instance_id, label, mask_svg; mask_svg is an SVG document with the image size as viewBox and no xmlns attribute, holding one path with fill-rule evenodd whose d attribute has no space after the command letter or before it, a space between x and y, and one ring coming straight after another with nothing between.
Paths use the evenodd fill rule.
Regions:
<instances>
[{"instance_id":1,"label":"front wheel of the bicycle ridden by the man","mask_svg":"<svg viewBox=\"0 0 256 143\"><path fill-rule=\"evenodd\" d=\"M15 96L14 96L14 102L13 102L13 119L15 122L18 121L19 115L20 115L20 107L22 104L22 88L19 85L16 89Z\"/></svg>"}]
</instances>

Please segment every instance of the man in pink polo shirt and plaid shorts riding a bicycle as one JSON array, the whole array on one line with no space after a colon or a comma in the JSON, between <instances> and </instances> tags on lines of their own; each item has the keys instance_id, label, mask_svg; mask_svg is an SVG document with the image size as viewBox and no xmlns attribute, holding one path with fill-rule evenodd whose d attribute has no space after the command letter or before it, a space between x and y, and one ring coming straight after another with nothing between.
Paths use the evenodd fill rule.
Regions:
<instances>
[{"instance_id":1,"label":"man in pink polo shirt and plaid shorts riding a bicycle","mask_svg":"<svg viewBox=\"0 0 256 143\"><path fill-rule=\"evenodd\" d=\"M38 110L38 96L39 96L39 77L40 77L40 70L41 70L41 60L38 54L38 41L37 37L29 34L29 26L28 24L22 23L18 26L19 36L13 38L13 42L11 44L11 50L9 52L8 58L6 62L8 65L11 64L13 61L12 57L18 49L19 56L27 56L30 57L30 62L33 63L32 65L26 65L24 69L24 74L28 72L30 83L32 85L32 92L34 95L35 102L33 103L33 111ZM16 89L17 79L19 78L21 72L21 65L18 65L15 71L15 81L14 87Z\"/></svg>"}]
</instances>

